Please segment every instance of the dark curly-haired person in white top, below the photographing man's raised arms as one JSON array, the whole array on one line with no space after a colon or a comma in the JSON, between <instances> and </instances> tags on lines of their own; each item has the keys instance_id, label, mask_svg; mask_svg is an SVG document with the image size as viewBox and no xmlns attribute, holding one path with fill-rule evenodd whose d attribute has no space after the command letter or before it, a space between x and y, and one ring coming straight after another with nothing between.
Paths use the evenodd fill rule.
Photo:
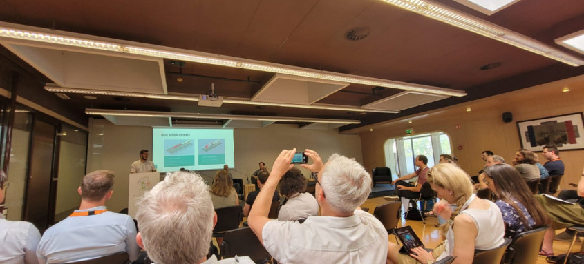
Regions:
<instances>
[{"instance_id":1,"label":"dark curly-haired person in white top, below the photographing man's raised arms","mask_svg":"<svg viewBox=\"0 0 584 264\"><path fill-rule=\"evenodd\" d=\"M306 219L319 214L319 204L312 194L306 191L306 179L296 167L288 170L280 179L280 192L286 197L278 213L279 221Z\"/></svg>"}]
</instances>

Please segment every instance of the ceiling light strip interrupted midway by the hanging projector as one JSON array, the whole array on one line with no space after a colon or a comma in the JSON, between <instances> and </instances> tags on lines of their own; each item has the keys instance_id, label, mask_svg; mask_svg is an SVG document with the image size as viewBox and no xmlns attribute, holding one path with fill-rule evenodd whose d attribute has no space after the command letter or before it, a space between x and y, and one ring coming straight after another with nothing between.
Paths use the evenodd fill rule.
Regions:
<instances>
[{"instance_id":1,"label":"ceiling light strip interrupted midway by the hanging projector","mask_svg":"<svg viewBox=\"0 0 584 264\"><path fill-rule=\"evenodd\" d=\"M180 101L199 101L198 97L186 97L178 95L166 95L166 94L142 94L138 92L111 92L111 91L100 91L100 90L85 90L85 89L75 89L75 88L60 88L56 86L45 86L45 90L49 92L64 92L73 94L94 94L94 95L106 95L111 97L140 97L140 98L151 98L151 99L169 99L169 100L180 100ZM394 110L373 110L365 108L356 107L343 107L336 105L299 105L293 103L269 103L269 102L256 102L256 101L246 101L246 100L235 100L235 99L223 99L223 103L234 103L240 105L266 105L266 106L277 106L283 108L308 108L308 109L321 109L321 110L339 110L339 111L353 111L353 112L377 112L385 114L397 114L399 111Z\"/></svg>"}]
</instances>

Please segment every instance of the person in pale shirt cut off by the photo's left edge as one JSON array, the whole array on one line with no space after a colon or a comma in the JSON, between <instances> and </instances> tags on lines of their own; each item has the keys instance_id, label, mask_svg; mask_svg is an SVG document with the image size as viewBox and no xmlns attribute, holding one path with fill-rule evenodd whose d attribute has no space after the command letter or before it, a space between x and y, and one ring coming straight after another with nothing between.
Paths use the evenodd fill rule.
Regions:
<instances>
[{"instance_id":1,"label":"person in pale shirt cut off by the photo's left edge","mask_svg":"<svg viewBox=\"0 0 584 264\"><path fill-rule=\"evenodd\" d=\"M6 196L6 173L0 170L0 203ZM0 214L0 263L38 263L37 245L41 233L32 223L8 221Z\"/></svg>"}]
</instances>

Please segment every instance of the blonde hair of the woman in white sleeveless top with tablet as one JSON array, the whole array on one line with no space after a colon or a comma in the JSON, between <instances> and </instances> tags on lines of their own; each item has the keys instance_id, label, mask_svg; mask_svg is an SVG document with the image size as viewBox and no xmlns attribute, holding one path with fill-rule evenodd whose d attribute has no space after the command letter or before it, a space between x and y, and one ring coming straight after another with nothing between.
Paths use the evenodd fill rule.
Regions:
<instances>
[{"instance_id":1,"label":"blonde hair of the woman in white sleeveless top with tablet","mask_svg":"<svg viewBox=\"0 0 584 264\"><path fill-rule=\"evenodd\" d=\"M452 192L456 198L456 208L450 217L450 221L441 226L442 234L449 230L454 218L460 214L462 205L469 200L473 194L473 183L467 172L464 172L458 165L450 163L440 163L435 165L428 172L428 183L437 187L442 187Z\"/></svg>"}]
</instances>

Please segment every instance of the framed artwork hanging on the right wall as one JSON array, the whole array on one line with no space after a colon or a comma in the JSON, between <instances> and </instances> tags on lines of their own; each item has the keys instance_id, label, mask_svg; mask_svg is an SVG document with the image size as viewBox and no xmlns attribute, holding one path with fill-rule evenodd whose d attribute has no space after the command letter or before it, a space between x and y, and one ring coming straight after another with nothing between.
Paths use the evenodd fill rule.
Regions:
<instances>
[{"instance_id":1,"label":"framed artwork hanging on the right wall","mask_svg":"<svg viewBox=\"0 0 584 264\"><path fill-rule=\"evenodd\" d=\"M582 112L517 122L521 148L542 151L546 145L558 150L584 149Z\"/></svg>"}]
</instances>

